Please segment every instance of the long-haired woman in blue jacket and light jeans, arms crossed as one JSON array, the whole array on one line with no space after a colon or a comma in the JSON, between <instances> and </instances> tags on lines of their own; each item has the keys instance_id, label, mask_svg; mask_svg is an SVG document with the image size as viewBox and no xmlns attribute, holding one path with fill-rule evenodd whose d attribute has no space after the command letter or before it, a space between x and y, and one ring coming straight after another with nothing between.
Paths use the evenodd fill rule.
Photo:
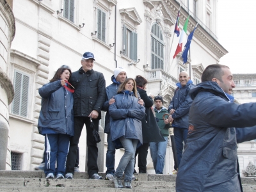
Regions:
<instances>
[{"instance_id":1,"label":"long-haired woman in blue jacket and light jeans, arms crossed","mask_svg":"<svg viewBox=\"0 0 256 192\"><path fill-rule=\"evenodd\" d=\"M138 104L139 98L134 79L126 79L120 85L117 93L115 102L109 106L109 115L112 118L110 131L116 146L118 146L118 143L122 143L125 153L116 168L114 183L115 188L124 188L122 175L125 173L125 188L131 189L134 155L137 145L143 143L141 120L145 116L145 108Z\"/></svg>"}]
</instances>

